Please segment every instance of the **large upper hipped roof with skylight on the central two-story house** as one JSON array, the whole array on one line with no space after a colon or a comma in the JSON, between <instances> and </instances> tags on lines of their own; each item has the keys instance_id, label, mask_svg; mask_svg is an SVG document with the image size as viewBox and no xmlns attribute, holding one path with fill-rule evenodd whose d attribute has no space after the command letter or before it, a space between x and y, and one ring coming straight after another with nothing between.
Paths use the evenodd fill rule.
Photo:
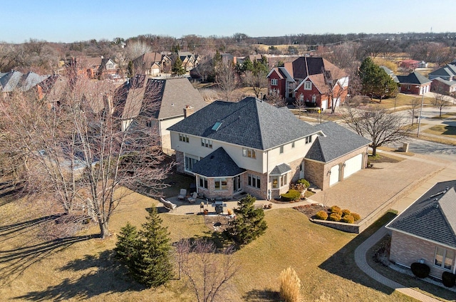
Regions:
<instances>
[{"instance_id":1,"label":"large upper hipped roof with skylight on the central two-story house","mask_svg":"<svg viewBox=\"0 0 456 302\"><path fill-rule=\"evenodd\" d=\"M222 124L218 130L212 130L217 122ZM287 108L279 109L256 98L244 98L238 103L217 100L168 130L258 150L268 150L318 132Z\"/></svg>"}]
</instances>

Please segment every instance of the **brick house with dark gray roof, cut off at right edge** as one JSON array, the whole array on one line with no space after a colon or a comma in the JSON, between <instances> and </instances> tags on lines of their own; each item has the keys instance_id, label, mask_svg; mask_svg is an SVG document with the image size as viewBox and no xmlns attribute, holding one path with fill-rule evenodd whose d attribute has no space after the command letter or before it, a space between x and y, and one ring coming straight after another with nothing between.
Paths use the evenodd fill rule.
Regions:
<instances>
[{"instance_id":1,"label":"brick house with dark gray roof, cut off at right edge","mask_svg":"<svg viewBox=\"0 0 456 302\"><path fill-rule=\"evenodd\" d=\"M430 276L456 273L456 180L438 182L386 225L391 231L390 260L410 268L430 266Z\"/></svg>"}]
</instances>

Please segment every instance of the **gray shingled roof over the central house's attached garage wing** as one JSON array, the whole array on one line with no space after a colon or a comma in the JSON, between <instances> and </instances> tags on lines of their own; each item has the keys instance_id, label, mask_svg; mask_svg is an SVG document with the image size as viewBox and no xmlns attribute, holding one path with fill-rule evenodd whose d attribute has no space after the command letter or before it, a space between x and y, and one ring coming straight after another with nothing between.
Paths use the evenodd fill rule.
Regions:
<instances>
[{"instance_id":1,"label":"gray shingled roof over the central house's attached garage wing","mask_svg":"<svg viewBox=\"0 0 456 302\"><path fill-rule=\"evenodd\" d=\"M316 138L306 154L306 158L309 160L331 162L331 160L336 160L338 157L371 143L371 140L333 122L323 123L315 127L326 136Z\"/></svg>"}]
</instances>

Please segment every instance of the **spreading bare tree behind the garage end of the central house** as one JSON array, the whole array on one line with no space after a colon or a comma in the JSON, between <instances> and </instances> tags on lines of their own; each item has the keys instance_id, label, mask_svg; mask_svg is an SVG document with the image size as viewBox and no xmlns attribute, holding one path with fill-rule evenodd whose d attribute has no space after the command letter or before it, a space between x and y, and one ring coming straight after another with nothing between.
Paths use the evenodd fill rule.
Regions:
<instances>
[{"instance_id":1,"label":"spreading bare tree behind the garage end of the central house","mask_svg":"<svg viewBox=\"0 0 456 302\"><path fill-rule=\"evenodd\" d=\"M348 127L372 140L373 156L378 147L403 140L410 129L400 115L389 113L380 106L361 110L347 105L346 110L341 110L341 115Z\"/></svg>"}]
</instances>

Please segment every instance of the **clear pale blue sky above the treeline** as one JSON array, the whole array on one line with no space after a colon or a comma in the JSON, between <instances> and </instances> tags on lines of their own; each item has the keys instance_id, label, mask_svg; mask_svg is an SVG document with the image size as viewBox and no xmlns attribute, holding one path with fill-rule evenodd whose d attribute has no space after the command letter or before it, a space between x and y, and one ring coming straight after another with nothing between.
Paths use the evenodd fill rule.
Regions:
<instances>
[{"instance_id":1,"label":"clear pale blue sky above the treeline","mask_svg":"<svg viewBox=\"0 0 456 302\"><path fill-rule=\"evenodd\" d=\"M0 41L456 31L455 0L2 1Z\"/></svg>"}]
</instances>

